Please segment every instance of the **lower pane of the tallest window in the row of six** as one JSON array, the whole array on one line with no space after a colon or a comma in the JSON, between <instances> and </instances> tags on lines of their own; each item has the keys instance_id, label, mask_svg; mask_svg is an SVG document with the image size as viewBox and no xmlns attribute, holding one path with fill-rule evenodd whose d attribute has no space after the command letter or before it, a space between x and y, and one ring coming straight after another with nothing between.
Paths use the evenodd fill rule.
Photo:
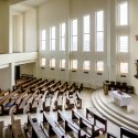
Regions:
<instances>
[{"instance_id":1,"label":"lower pane of the tallest window in the row of six","mask_svg":"<svg viewBox=\"0 0 138 138\"><path fill-rule=\"evenodd\" d=\"M97 32L97 38L96 38L96 46L97 46L97 52L104 52L104 33L103 32Z\"/></svg>"}]
</instances>

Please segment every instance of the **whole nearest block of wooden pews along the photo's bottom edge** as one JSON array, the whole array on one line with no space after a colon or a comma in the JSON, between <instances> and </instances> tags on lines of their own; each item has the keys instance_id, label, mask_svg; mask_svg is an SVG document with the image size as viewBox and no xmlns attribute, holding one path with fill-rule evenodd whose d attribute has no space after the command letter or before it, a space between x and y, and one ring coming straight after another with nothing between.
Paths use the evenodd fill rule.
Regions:
<instances>
[{"instance_id":1,"label":"whole nearest block of wooden pews along the photo's bottom edge","mask_svg":"<svg viewBox=\"0 0 138 138\"><path fill-rule=\"evenodd\" d=\"M14 119L12 114L11 125L8 125L4 130L2 127L3 121L0 121L0 138L95 138L100 132L107 138L117 138L107 131L107 119L95 113L93 108L86 108L86 114L72 109L71 115L65 110L57 110L55 118L43 112L41 123L28 113L28 123L23 126L21 120ZM138 134L120 127L120 138L124 136L137 138Z\"/></svg>"}]
</instances>

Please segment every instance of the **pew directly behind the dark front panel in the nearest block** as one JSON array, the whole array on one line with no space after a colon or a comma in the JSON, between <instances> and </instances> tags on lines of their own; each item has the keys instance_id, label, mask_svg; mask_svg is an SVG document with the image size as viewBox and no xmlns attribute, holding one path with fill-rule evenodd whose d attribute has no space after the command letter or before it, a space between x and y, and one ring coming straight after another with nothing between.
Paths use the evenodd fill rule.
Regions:
<instances>
[{"instance_id":1,"label":"pew directly behind the dark front panel in the nearest block","mask_svg":"<svg viewBox=\"0 0 138 138\"><path fill-rule=\"evenodd\" d=\"M72 119L78 119L81 128L89 128L92 137L99 136L99 129L96 126L94 126L94 124L91 120L88 120L85 116L83 116L78 110L72 109Z\"/></svg>"}]
</instances>

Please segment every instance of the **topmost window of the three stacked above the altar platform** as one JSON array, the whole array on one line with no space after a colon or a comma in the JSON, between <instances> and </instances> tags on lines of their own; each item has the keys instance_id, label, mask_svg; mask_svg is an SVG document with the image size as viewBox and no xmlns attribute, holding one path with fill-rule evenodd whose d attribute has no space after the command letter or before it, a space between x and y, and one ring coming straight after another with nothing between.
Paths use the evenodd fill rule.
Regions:
<instances>
[{"instance_id":1,"label":"topmost window of the three stacked above the altar platform","mask_svg":"<svg viewBox=\"0 0 138 138\"><path fill-rule=\"evenodd\" d=\"M124 2L119 4L119 25L128 24L128 3Z\"/></svg>"}]
</instances>

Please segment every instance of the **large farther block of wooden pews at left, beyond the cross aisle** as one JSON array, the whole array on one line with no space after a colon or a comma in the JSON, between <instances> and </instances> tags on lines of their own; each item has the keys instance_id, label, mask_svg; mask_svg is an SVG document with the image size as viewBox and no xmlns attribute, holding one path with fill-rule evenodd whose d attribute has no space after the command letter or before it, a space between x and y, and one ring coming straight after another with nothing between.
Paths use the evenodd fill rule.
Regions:
<instances>
[{"instance_id":1,"label":"large farther block of wooden pews at left, beyond the cross aisle","mask_svg":"<svg viewBox=\"0 0 138 138\"><path fill-rule=\"evenodd\" d=\"M36 113L39 105L42 110L50 112L52 98L54 97L54 110L63 108L71 109L75 106L82 107L79 92L83 84L68 85L67 82L28 78L17 83L12 92L0 92L0 115Z\"/></svg>"}]
</instances>

